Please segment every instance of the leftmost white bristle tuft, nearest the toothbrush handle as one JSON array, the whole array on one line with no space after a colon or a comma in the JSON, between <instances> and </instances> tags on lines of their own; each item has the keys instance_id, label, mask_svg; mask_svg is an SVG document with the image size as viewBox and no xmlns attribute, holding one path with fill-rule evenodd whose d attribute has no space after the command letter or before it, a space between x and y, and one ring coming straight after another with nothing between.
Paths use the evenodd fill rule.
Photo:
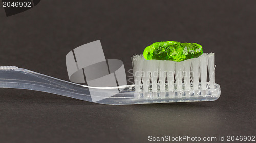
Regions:
<instances>
[{"instance_id":1,"label":"leftmost white bristle tuft, nearest the toothbrush handle","mask_svg":"<svg viewBox=\"0 0 256 143\"><path fill-rule=\"evenodd\" d=\"M132 62L133 62L133 70L134 70L133 74L134 74L135 90L140 91L143 63L144 63L143 55L134 55L132 58Z\"/></svg>"}]
</instances>

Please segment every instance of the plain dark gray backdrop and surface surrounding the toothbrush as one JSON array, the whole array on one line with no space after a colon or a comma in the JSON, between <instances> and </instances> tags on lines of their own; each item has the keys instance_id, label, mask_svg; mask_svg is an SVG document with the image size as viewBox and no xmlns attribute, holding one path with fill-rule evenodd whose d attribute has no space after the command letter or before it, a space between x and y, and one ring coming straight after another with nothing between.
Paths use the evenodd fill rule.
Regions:
<instances>
[{"instance_id":1,"label":"plain dark gray backdrop and surface surrounding the toothbrush","mask_svg":"<svg viewBox=\"0 0 256 143\"><path fill-rule=\"evenodd\" d=\"M196 42L216 53L214 102L111 106L0 89L0 142L146 142L148 136L256 135L255 1L46 1L6 17L0 65L69 80L65 56L101 40L106 58L157 41ZM127 76L129 73L127 73Z\"/></svg>"}]
</instances>

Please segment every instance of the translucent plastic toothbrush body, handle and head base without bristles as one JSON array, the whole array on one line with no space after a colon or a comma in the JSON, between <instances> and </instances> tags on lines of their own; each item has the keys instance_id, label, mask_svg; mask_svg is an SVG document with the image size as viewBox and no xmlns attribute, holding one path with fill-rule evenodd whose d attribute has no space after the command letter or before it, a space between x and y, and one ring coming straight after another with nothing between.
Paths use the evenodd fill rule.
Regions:
<instances>
[{"instance_id":1,"label":"translucent plastic toothbrush body, handle and head base without bristles","mask_svg":"<svg viewBox=\"0 0 256 143\"><path fill-rule=\"evenodd\" d=\"M0 67L0 87L42 91L89 102L92 102L92 96L108 97L95 103L111 105L214 101L221 94L218 84L209 88L208 83L206 90L201 90L199 84L199 89L196 91L193 91L191 85L190 90L182 88L180 91L175 89L172 92L160 92L159 90L157 92L152 92L152 90L135 92L134 85L105 88L88 87L17 67ZM91 92L94 92L94 95L90 94L89 88ZM119 92L109 97L117 89Z\"/></svg>"}]
</instances>

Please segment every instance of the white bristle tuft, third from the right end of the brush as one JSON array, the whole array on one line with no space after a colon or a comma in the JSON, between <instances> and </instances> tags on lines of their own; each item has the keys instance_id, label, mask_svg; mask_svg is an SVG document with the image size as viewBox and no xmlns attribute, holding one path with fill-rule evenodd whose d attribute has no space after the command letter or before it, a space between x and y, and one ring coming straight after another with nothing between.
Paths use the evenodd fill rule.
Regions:
<instances>
[{"instance_id":1,"label":"white bristle tuft, third from the right end of the brush","mask_svg":"<svg viewBox=\"0 0 256 143\"><path fill-rule=\"evenodd\" d=\"M194 90L199 88L199 66L200 66L200 57L191 59L191 73L192 73L192 85Z\"/></svg>"}]
</instances>

